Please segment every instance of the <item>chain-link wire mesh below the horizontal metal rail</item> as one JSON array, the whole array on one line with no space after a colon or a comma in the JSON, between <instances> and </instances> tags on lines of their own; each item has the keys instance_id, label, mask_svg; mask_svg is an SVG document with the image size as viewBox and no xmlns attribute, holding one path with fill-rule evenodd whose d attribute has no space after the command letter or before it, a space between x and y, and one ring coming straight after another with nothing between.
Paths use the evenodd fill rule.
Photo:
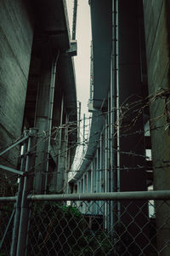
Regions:
<instances>
[{"instance_id":1,"label":"chain-link wire mesh below the horizontal metal rail","mask_svg":"<svg viewBox=\"0 0 170 256\"><path fill-rule=\"evenodd\" d=\"M10 254L14 203L0 205L3 256ZM28 256L170 255L168 200L43 199L30 201L30 210Z\"/></svg>"}]
</instances>

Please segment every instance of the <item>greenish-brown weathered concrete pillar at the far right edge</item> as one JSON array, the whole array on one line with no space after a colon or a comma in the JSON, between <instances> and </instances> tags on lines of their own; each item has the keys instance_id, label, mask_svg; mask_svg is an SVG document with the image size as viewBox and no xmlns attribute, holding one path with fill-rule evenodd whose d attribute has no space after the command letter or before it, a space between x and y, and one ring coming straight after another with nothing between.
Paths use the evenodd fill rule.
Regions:
<instances>
[{"instance_id":1,"label":"greenish-brown weathered concrete pillar at the far right edge","mask_svg":"<svg viewBox=\"0 0 170 256\"><path fill-rule=\"evenodd\" d=\"M148 67L149 95L156 95L157 91L169 90L169 56L170 56L170 3L169 1L156 1L155 4L144 0L144 32ZM170 132L168 121L167 100L158 97L156 102L150 104L151 150L154 172L154 189L170 189ZM163 114L163 117L159 118ZM156 129L156 127L159 127ZM167 129L166 129L167 127ZM170 255L170 202L156 203L156 228L158 251L161 256ZM168 244L168 246L167 246Z\"/></svg>"}]
</instances>

